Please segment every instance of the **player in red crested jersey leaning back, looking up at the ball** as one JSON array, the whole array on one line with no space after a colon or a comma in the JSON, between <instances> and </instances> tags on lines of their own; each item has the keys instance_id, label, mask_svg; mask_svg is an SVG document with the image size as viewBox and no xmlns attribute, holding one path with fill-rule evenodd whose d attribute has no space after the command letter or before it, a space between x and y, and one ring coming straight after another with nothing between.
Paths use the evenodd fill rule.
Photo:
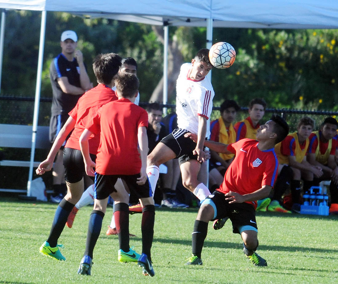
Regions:
<instances>
[{"instance_id":1,"label":"player in red crested jersey leaning back, looking up at the ball","mask_svg":"<svg viewBox=\"0 0 338 284\"><path fill-rule=\"evenodd\" d=\"M288 132L285 120L273 115L257 130L258 142L253 139L242 139L229 145L204 142L206 147L218 153L236 156L220 188L201 204L192 233L192 257L187 265L202 264L201 252L209 221L228 217L233 224L233 233L240 234L243 239L245 256L255 265L267 266L266 261L255 252L258 247L256 201L267 197L273 187L278 170L274 146Z\"/></svg>"}]
</instances>

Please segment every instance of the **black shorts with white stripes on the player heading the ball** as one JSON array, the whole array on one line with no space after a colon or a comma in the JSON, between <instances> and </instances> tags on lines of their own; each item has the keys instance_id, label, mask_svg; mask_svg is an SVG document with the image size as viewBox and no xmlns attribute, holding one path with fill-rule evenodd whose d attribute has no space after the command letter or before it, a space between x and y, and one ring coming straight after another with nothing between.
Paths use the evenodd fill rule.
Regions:
<instances>
[{"instance_id":1,"label":"black shorts with white stripes on the player heading the ball","mask_svg":"<svg viewBox=\"0 0 338 284\"><path fill-rule=\"evenodd\" d=\"M196 143L189 137L184 137L184 134L189 132L190 131L182 128L174 129L172 133L161 140L164 145L174 151L180 165L188 160L197 160L197 155L192 153L196 148ZM204 149L205 147L203 147L203 150Z\"/></svg>"}]
</instances>

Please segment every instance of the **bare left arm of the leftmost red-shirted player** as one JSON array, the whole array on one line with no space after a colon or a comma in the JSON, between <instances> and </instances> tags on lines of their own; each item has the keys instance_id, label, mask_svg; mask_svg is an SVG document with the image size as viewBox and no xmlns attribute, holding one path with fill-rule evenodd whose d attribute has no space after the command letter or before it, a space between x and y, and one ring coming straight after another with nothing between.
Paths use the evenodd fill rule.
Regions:
<instances>
[{"instance_id":1,"label":"bare left arm of the leftmost red-shirted player","mask_svg":"<svg viewBox=\"0 0 338 284\"><path fill-rule=\"evenodd\" d=\"M57 134L56 139L50 149L47 159L40 163L35 172L38 175L43 175L45 172L48 172L53 167L53 162L57 152L60 150L62 144L65 142L68 134L74 129L75 120L72 117L69 117L65 125L61 128L60 132Z\"/></svg>"}]
</instances>

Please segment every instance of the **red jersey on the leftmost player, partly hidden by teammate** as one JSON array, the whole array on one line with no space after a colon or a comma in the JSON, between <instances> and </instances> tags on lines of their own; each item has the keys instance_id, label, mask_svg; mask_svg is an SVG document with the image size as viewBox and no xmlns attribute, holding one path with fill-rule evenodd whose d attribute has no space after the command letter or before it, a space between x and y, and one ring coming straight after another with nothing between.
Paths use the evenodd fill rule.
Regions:
<instances>
[{"instance_id":1,"label":"red jersey on the leftmost player, partly hidden by teammate","mask_svg":"<svg viewBox=\"0 0 338 284\"><path fill-rule=\"evenodd\" d=\"M117 100L115 92L108 86L98 84L95 88L86 92L77 102L69 115L76 121L72 135L67 140L66 146L80 150L79 138L86 128L86 121L91 119L103 104ZM99 135L89 137L89 153L96 155L100 144Z\"/></svg>"}]
</instances>

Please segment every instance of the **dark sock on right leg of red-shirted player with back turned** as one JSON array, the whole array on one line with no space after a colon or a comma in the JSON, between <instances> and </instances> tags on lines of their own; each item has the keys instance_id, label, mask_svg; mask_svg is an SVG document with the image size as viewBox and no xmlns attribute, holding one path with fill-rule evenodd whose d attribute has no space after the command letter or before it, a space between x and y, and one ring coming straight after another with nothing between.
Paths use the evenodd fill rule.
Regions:
<instances>
[{"instance_id":1,"label":"dark sock on right leg of red-shirted player with back turned","mask_svg":"<svg viewBox=\"0 0 338 284\"><path fill-rule=\"evenodd\" d=\"M151 261L150 249L154 237L155 206L145 205L142 207L142 253L146 254Z\"/></svg>"}]
</instances>

